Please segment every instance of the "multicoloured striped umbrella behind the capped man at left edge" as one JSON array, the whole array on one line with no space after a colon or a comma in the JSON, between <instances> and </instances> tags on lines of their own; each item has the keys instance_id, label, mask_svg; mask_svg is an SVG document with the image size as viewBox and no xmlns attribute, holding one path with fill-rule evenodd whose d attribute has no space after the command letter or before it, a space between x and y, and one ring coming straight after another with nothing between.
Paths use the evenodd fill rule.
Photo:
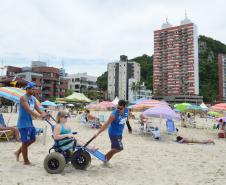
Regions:
<instances>
[{"instance_id":1,"label":"multicoloured striped umbrella behind the capped man at left edge","mask_svg":"<svg viewBox=\"0 0 226 185\"><path fill-rule=\"evenodd\" d=\"M25 90L16 87L0 87L0 97L11 100L16 104L20 103L20 97L23 96L25 93ZM37 99L36 102L41 109L44 109Z\"/></svg>"}]
</instances>

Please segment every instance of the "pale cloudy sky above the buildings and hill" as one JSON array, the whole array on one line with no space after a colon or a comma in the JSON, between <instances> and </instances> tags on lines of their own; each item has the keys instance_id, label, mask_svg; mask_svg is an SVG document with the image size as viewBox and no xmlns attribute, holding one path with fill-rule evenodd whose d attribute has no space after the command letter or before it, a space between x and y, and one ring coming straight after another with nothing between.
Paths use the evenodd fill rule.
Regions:
<instances>
[{"instance_id":1,"label":"pale cloudy sky above the buildings and hill","mask_svg":"<svg viewBox=\"0 0 226 185\"><path fill-rule=\"evenodd\" d=\"M225 7L225 0L0 0L0 67L41 60L99 76L122 54L152 55L153 31L166 17L179 25L185 10L198 34L226 44Z\"/></svg>"}]
</instances>

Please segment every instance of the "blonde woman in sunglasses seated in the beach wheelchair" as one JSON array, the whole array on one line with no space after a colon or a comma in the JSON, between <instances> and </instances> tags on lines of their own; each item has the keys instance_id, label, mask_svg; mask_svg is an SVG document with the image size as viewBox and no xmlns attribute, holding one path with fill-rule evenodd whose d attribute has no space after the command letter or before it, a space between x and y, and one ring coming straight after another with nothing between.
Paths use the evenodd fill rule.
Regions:
<instances>
[{"instance_id":1,"label":"blonde woman in sunglasses seated in the beach wheelchair","mask_svg":"<svg viewBox=\"0 0 226 185\"><path fill-rule=\"evenodd\" d=\"M53 138L57 142L57 146L62 151L73 150L74 144L76 146L84 145L84 142L78 140L75 135L73 135L71 128L67 124L67 118L69 117L67 111L59 111L56 116L57 124L54 126ZM87 147L92 151L96 151L95 147Z\"/></svg>"}]
</instances>

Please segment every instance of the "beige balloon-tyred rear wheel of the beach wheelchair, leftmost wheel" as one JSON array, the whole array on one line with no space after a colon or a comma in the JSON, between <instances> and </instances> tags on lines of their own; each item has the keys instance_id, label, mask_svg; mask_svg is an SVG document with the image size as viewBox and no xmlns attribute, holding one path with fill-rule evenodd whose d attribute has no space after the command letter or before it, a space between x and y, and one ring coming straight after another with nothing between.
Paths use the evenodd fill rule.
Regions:
<instances>
[{"instance_id":1,"label":"beige balloon-tyred rear wheel of the beach wheelchair, leftmost wheel","mask_svg":"<svg viewBox=\"0 0 226 185\"><path fill-rule=\"evenodd\" d=\"M56 174L64 171L66 160L64 156L58 152L52 152L45 157L44 168L48 173Z\"/></svg>"}]
</instances>

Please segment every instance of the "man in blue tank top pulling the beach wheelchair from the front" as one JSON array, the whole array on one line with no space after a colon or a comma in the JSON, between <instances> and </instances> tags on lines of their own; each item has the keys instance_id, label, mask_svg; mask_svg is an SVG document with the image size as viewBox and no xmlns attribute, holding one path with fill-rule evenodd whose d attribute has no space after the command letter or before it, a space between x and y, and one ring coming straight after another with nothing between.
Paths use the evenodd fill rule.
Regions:
<instances>
[{"instance_id":1,"label":"man in blue tank top pulling the beach wheelchair from the front","mask_svg":"<svg viewBox=\"0 0 226 185\"><path fill-rule=\"evenodd\" d=\"M111 150L105 155L106 162L108 162L114 154L123 150L122 133L125 124L127 124L129 133L132 133L132 128L128 120L129 111L125 106L126 102L124 100L119 100L117 109L111 113L108 121L95 135L95 137L97 137L101 132L108 128L108 134L111 140Z\"/></svg>"}]
</instances>

